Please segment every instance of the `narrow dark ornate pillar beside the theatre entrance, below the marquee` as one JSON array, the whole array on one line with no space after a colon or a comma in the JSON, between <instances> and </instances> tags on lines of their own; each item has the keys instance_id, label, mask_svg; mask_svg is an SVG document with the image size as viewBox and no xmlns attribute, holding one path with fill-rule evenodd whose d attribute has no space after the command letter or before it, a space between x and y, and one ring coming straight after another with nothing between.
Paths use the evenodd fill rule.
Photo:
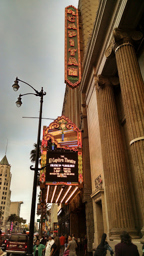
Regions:
<instances>
[{"instance_id":1,"label":"narrow dark ornate pillar beside the theatre entrance, below the marquee","mask_svg":"<svg viewBox=\"0 0 144 256\"><path fill-rule=\"evenodd\" d=\"M91 188L84 188L82 202L85 203L86 215L86 237L87 237L87 253L92 255L92 243L94 239L94 220L93 220L93 205L90 198Z\"/></svg>"}]
</instances>

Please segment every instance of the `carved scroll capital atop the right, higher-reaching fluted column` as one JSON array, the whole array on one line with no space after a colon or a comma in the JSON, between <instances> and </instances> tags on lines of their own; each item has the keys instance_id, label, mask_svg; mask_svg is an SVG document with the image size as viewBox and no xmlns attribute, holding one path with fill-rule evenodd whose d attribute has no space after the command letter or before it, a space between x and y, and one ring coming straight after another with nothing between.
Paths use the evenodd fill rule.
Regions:
<instances>
[{"instance_id":1,"label":"carved scroll capital atop the right, higher-reaching fluted column","mask_svg":"<svg viewBox=\"0 0 144 256\"><path fill-rule=\"evenodd\" d=\"M109 58L109 59L114 57L114 53L119 47L126 44L133 45L134 41L140 40L143 36L141 31L136 31L136 30L124 31L119 28L115 28L112 33L113 33L113 38L105 51L105 56L106 58Z\"/></svg>"}]
</instances>

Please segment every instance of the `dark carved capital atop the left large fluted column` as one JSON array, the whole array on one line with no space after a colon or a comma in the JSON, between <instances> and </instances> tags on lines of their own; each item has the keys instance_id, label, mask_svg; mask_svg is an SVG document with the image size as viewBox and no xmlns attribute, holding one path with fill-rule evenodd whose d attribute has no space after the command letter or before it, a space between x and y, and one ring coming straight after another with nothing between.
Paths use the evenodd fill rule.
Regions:
<instances>
[{"instance_id":1,"label":"dark carved capital atop the left large fluted column","mask_svg":"<svg viewBox=\"0 0 144 256\"><path fill-rule=\"evenodd\" d=\"M112 86L112 85L118 85L119 84L119 78L116 76L103 76L98 75L97 76L97 89L100 89L103 86Z\"/></svg>"}]
</instances>

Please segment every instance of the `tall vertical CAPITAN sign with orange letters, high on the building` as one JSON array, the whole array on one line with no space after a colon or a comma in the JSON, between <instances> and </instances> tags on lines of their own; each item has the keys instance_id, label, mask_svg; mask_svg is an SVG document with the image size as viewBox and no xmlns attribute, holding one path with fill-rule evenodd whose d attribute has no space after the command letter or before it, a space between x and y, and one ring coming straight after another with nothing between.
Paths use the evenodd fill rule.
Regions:
<instances>
[{"instance_id":1,"label":"tall vertical CAPITAN sign with orange letters, high on the building","mask_svg":"<svg viewBox=\"0 0 144 256\"><path fill-rule=\"evenodd\" d=\"M78 10L65 8L65 83L76 88L81 80Z\"/></svg>"}]
</instances>

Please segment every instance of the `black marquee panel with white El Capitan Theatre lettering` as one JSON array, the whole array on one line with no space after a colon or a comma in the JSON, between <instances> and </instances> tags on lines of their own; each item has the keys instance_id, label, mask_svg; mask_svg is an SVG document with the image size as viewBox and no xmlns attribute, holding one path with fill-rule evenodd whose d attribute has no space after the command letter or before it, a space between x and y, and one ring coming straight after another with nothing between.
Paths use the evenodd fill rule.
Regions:
<instances>
[{"instance_id":1,"label":"black marquee panel with white El Capitan Theatre lettering","mask_svg":"<svg viewBox=\"0 0 144 256\"><path fill-rule=\"evenodd\" d=\"M78 155L73 152L47 152L46 156L46 181L78 182ZM63 176L59 174L63 167Z\"/></svg>"}]
</instances>

